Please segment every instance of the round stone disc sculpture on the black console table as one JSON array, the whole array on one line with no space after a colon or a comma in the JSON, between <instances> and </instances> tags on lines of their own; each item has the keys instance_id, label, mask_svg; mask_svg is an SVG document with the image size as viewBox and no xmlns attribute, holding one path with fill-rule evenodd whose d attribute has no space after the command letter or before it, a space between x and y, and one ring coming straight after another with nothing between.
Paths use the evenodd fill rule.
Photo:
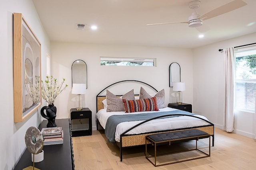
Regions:
<instances>
[{"instance_id":1,"label":"round stone disc sculpture on the black console table","mask_svg":"<svg viewBox=\"0 0 256 170\"><path fill-rule=\"evenodd\" d=\"M32 154L38 154L44 147L43 136L38 128L29 127L25 135L27 149Z\"/></svg>"}]
</instances>

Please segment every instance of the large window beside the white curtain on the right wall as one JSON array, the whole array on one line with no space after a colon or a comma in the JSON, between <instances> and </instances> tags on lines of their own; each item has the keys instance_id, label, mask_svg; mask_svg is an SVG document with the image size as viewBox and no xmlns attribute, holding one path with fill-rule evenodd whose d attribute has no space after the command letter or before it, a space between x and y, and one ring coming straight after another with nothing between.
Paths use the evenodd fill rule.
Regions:
<instances>
[{"instance_id":1,"label":"large window beside the white curtain on the right wall","mask_svg":"<svg viewBox=\"0 0 256 170\"><path fill-rule=\"evenodd\" d=\"M235 108L255 111L256 46L235 49Z\"/></svg>"}]
</instances>

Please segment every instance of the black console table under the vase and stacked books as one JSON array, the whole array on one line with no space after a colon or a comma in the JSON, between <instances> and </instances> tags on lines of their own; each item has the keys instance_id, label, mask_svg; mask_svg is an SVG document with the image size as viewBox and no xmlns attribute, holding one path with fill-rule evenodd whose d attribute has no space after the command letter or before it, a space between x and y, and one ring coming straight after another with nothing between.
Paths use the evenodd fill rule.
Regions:
<instances>
[{"instance_id":1,"label":"black console table under the vase and stacked books","mask_svg":"<svg viewBox=\"0 0 256 170\"><path fill-rule=\"evenodd\" d=\"M55 122L57 127L63 129L63 144L45 145L43 147L44 160L36 162L35 168L40 170L74 170L70 119L56 119ZM43 120L38 129L41 130L46 127L46 124L47 120ZM26 149L14 170L22 170L28 166L33 166L33 162L31 161L31 153Z\"/></svg>"}]
</instances>

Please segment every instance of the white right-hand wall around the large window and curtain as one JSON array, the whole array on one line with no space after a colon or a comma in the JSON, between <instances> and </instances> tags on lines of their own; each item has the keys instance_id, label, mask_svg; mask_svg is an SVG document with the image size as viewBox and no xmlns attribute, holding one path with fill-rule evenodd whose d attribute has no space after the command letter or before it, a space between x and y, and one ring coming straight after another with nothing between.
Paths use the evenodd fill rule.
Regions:
<instances>
[{"instance_id":1,"label":"white right-hand wall around the large window and curtain","mask_svg":"<svg viewBox=\"0 0 256 170\"><path fill-rule=\"evenodd\" d=\"M224 54L218 49L255 43L256 33L221 41L193 50L194 113L208 117L216 127L224 127ZM235 112L235 133L253 138L253 115Z\"/></svg>"}]
</instances>

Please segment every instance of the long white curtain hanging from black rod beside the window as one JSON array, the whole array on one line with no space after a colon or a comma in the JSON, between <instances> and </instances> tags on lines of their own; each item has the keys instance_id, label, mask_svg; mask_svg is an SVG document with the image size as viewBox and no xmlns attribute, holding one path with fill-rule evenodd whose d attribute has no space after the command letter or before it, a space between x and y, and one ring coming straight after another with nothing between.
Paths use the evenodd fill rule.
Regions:
<instances>
[{"instance_id":1,"label":"long white curtain hanging from black rod beside the window","mask_svg":"<svg viewBox=\"0 0 256 170\"><path fill-rule=\"evenodd\" d=\"M225 52L225 126L227 132L234 130L234 48L226 48Z\"/></svg>"}]
</instances>

